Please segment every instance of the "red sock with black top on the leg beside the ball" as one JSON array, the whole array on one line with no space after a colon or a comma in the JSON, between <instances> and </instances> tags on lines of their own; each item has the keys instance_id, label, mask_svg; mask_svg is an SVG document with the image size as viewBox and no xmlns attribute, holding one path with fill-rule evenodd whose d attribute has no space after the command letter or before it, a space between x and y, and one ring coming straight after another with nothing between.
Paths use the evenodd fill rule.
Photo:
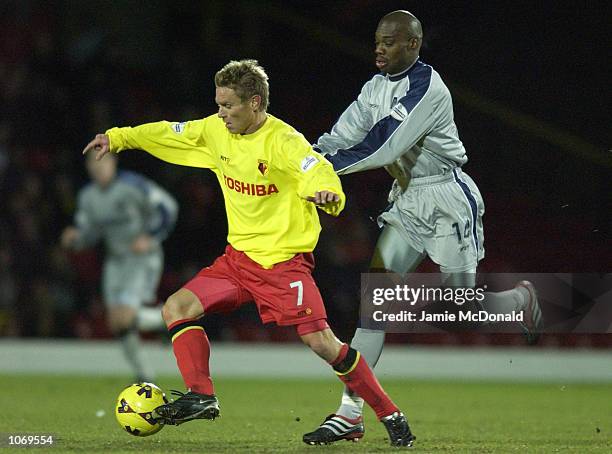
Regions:
<instances>
[{"instance_id":1,"label":"red sock with black top on the leg beside the ball","mask_svg":"<svg viewBox=\"0 0 612 454\"><path fill-rule=\"evenodd\" d=\"M210 343L197 320L178 320L168 326L172 349L185 386L200 394L214 394L208 360Z\"/></svg>"}]
</instances>

